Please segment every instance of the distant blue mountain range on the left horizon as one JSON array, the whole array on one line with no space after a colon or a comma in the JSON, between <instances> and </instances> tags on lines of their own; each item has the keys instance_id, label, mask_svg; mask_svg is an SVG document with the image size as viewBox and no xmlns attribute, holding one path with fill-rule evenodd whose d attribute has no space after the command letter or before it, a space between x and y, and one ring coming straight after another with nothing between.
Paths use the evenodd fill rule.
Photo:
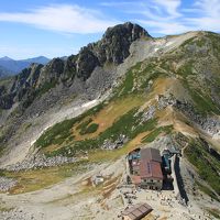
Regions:
<instances>
[{"instance_id":1,"label":"distant blue mountain range on the left horizon","mask_svg":"<svg viewBox=\"0 0 220 220\"><path fill-rule=\"evenodd\" d=\"M37 56L28 59L15 61L8 56L0 58L0 78L19 74L22 69L29 67L32 63L47 64L51 59L45 56Z\"/></svg>"}]
</instances>

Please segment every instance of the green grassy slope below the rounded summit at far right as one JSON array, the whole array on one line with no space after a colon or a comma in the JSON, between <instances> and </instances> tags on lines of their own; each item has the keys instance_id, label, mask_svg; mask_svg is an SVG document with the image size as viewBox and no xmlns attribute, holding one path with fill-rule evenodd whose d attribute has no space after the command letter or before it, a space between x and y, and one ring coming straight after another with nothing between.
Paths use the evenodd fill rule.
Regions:
<instances>
[{"instance_id":1,"label":"green grassy slope below the rounded summit at far right","mask_svg":"<svg viewBox=\"0 0 220 220\"><path fill-rule=\"evenodd\" d=\"M220 114L211 92L220 92L220 35L199 34L161 58L160 66L179 77L200 114ZM202 74L201 74L202 73Z\"/></svg>"}]
</instances>

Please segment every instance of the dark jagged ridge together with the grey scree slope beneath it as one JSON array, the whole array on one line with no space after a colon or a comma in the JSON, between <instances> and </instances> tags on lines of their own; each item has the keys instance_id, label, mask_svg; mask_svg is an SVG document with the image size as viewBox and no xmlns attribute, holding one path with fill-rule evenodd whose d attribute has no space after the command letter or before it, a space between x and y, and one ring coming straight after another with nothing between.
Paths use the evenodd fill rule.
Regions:
<instances>
[{"instance_id":1,"label":"dark jagged ridge together with the grey scree slope beneath it","mask_svg":"<svg viewBox=\"0 0 220 220\"><path fill-rule=\"evenodd\" d=\"M141 37L151 36L136 24L118 25L108 29L99 42L81 48L78 55L65 61L54 58L45 66L33 64L18 76L0 81L0 124L4 124L1 142L7 143L24 121L65 100L98 97L111 87L114 66L129 56L130 45Z\"/></svg>"}]
</instances>

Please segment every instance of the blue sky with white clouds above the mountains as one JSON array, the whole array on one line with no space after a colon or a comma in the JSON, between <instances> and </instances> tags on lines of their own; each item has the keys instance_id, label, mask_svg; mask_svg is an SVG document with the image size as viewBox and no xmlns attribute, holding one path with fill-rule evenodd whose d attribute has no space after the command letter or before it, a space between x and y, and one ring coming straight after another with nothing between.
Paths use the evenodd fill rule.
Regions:
<instances>
[{"instance_id":1,"label":"blue sky with white clouds above the mountains","mask_svg":"<svg viewBox=\"0 0 220 220\"><path fill-rule=\"evenodd\" d=\"M220 0L0 0L0 56L76 54L125 21L152 36L220 32Z\"/></svg>"}]
</instances>

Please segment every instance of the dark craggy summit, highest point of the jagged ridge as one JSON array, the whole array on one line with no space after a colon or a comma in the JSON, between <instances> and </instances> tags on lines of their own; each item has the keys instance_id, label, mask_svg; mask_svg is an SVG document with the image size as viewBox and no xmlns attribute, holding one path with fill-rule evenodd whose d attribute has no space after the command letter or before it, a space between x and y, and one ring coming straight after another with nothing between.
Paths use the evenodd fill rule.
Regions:
<instances>
[{"instance_id":1,"label":"dark craggy summit, highest point of the jagged ridge","mask_svg":"<svg viewBox=\"0 0 220 220\"><path fill-rule=\"evenodd\" d=\"M151 35L131 22L107 29L100 41L80 50L76 61L77 76L87 79L97 66L121 64L130 55L131 44L141 37Z\"/></svg>"}]
</instances>

